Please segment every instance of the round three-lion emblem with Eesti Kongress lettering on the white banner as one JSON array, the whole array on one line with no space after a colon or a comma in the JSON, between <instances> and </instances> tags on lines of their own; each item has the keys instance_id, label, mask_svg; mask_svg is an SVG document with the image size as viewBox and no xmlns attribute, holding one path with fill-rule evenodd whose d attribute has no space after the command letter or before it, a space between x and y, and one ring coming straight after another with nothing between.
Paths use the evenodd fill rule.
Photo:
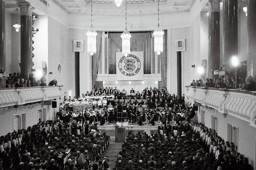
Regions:
<instances>
[{"instance_id":1,"label":"round three-lion emblem with Eesti Kongress lettering on the white banner","mask_svg":"<svg viewBox=\"0 0 256 170\"><path fill-rule=\"evenodd\" d=\"M119 71L125 76L136 75L140 71L140 66L140 59L132 54L123 56L118 62Z\"/></svg>"}]
</instances>

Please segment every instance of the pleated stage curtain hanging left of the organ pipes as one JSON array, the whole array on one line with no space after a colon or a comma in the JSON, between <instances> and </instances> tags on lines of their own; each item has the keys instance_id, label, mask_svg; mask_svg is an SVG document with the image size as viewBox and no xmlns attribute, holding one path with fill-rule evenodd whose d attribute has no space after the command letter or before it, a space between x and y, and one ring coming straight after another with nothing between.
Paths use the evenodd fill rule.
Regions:
<instances>
[{"instance_id":1,"label":"pleated stage curtain hanging left of the organ pipes","mask_svg":"<svg viewBox=\"0 0 256 170\"><path fill-rule=\"evenodd\" d=\"M99 70L99 62L100 62L100 55L101 55L101 34L102 32L97 31L97 36L96 36L97 52L96 54L92 55L92 87L95 83L95 80L98 75L98 70Z\"/></svg>"}]
</instances>

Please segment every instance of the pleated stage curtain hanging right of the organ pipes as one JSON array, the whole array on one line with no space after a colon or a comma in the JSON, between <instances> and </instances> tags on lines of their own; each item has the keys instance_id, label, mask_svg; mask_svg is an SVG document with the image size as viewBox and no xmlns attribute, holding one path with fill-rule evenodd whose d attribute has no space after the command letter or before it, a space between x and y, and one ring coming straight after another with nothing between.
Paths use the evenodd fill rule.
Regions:
<instances>
[{"instance_id":1,"label":"pleated stage curtain hanging right of the organ pipes","mask_svg":"<svg viewBox=\"0 0 256 170\"><path fill-rule=\"evenodd\" d=\"M167 82L167 30L164 30L163 35L163 53L160 54L161 59L161 78L164 84L164 87L166 87Z\"/></svg>"}]
</instances>

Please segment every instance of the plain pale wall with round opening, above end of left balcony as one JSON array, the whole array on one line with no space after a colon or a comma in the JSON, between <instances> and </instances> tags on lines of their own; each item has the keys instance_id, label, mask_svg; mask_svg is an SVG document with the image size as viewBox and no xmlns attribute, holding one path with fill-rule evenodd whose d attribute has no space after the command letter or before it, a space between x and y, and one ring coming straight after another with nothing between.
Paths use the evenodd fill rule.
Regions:
<instances>
[{"instance_id":1,"label":"plain pale wall with round opening, above end of left balcony","mask_svg":"<svg viewBox=\"0 0 256 170\"><path fill-rule=\"evenodd\" d=\"M70 55L72 44L68 28L48 17L48 72L52 72L49 80L56 79L58 84L64 85L63 92L67 96L69 90L75 94L75 59Z\"/></svg>"}]
</instances>

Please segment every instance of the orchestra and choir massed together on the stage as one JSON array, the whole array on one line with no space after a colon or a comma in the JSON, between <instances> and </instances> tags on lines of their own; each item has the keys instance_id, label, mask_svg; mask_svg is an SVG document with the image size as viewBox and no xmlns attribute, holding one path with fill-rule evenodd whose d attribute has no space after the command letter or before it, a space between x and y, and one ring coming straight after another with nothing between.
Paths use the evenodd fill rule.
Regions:
<instances>
[{"instance_id":1,"label":"orchestra and choir massed together on the stage","mask_svg":"<svg viewBox=\"0 0 256 170\"><path fill-rule=\"evenodd\" d=\"M110 88L93 88L89 93L78 96L72 100L65 100L60 104L60 120L69 122L76 120L81 122L89 121L89 125L93 122L100 122L100 125L117 122L117 113L124 112L127 114L130 123L143 125L143 122L148 120L153 126L156 121L167 124L167 122L185 121L194 116L193 107L185 107L184 94L180 98L179 95L169 94L165 88L150 89L145 88L140 94L139 91L135 93L133 99L131 95L126 95L117 90L116 87ZM132 89L130 92L134 93ZM91 105L92 107L85 107L82 114L82 109L73 109L73 106ZM124 121L124 119L122 120Z\"/></svg>"}]
</instances>

